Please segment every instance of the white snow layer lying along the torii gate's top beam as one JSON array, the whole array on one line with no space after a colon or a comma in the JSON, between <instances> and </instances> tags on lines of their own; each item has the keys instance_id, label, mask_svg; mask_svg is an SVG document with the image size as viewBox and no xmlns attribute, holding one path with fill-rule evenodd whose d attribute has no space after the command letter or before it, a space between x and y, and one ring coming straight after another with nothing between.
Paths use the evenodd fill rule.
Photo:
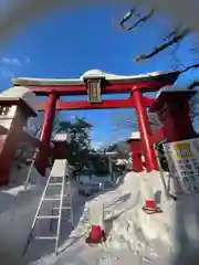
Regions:
<instances>
[{"instance_id":1,"label":"white snow layer lying along the torii gate's top beam","mask_svg":"<svg viewBox=\"0 0 199 265\"><path fill-rule=\"evenodd\" d=\"M116 75L103 72L101 70L90 70L85 72L80 78L64 78L64 80L55 80L55 78L29 78L29 77L17 77L12 80L13 85L83 85L84 80L86 78L105 78L111 83L123 82L129 83L130 81L134 82L135 80L143 80L143 78L150 78L150 77L158 77L161 75L171 74L175 72L151 72L146 74L139 75ZM177 73L177 72L176 72Z\"/></svg>"}]
</instances>

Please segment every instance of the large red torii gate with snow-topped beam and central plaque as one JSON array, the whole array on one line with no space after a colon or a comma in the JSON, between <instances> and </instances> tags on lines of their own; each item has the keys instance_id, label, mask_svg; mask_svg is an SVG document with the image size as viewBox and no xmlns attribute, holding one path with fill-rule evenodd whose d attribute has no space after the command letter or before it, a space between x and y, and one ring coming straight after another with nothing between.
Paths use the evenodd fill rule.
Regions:
<instances>
[{"instance_id":1,"label":"large red torii gate with snow-topped beam and central plaque","mask_svg":"<svg viewBox=\"0 0 199 265\"><path fill-rule=\"evenodd\" d=\"M50 146L55 110L134 107L137 114L146 168L147 171L151 171L158 170L158 165L146 108L150 107L155 99L143 94L157 92L163 86L172 85L179 74L179 72L154 72L145 75L119 76L93 70L77 80L14 78L13 85L25 86L38 96L49 96L49 100L39 107L40 110L45 112L40 140L46 148ZM101 94L126 93L129 94L127 99L103 100L101 98ZM88 95L90 100L62 102L60 99L61 96L74 95ZM36 167L44 176L48 167L45 151L40 150Z\"/></svg>"}]
</instances>

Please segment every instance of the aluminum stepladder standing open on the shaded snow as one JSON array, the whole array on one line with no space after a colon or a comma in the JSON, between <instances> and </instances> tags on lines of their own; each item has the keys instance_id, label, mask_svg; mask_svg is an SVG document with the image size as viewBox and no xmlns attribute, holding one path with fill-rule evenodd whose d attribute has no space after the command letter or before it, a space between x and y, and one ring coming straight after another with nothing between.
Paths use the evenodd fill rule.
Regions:
<instances>
[{"instance_id":1,"label":"aluminum stepladder standing open on the shaded snow","mask_svg":"<svg viewBox=\"0 0 199 265\"><path fill-rule=\"evenodd\" d=\"M67 178L67 181L66 181ZM51 188L57 188L60 187L60 194L53 194L51 197L46 195L46 192ZM66 193L64 192L66 188ZM52 190L53 192L53 190ZM67 199L67 204L64 205L64 199ZM51 209L51 214L50 215L42 215L41 208L43 203L52 201L53 205ZM57 203L59 205L54 206L54 203ZM60 231L61 231L61 222L62 222L62 212L63 210L70 210L71 212L71 224L73 226L74 224L74 219L73 219L73 201L72 201L72 194L71 194L71 181L70 181L70 170L69 170L69 163L66 159L56 159L54 161L54 165L52 167L51 173L49 176L49 179L46 181L45 188L43 190L38 210L35 212L31 231L23 251L23 256L25 255L29 244L31 242L31 239L34 240L55 240L55 255L57 255L57 250L59 250L59 240L60 240ZM54 212L56 214L54 214ZM50 220L50 229L52 227L52 221L57 221L57 226L56 226L56 235L55 236L33 236L34 227L36 224L36 221L39 220Z\"/></svg>"}]
</instances>

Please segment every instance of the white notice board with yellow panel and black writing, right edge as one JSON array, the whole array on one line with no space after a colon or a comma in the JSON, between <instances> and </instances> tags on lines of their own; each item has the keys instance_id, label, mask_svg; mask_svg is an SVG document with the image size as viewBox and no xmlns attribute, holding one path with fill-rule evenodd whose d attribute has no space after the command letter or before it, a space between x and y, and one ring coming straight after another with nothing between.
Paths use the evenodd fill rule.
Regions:
<instances>
[{"instance_id":1,"label":"white notice board with yellow panel and black writing, right edge","mask_svg":"<svg viewBox=\"0 0 199 265\"><path fill-rule=\"evenodd\" d=\"M199 138L164 144L170 173L186 193L199 193Z\"/></svg>"}]
</instances>

